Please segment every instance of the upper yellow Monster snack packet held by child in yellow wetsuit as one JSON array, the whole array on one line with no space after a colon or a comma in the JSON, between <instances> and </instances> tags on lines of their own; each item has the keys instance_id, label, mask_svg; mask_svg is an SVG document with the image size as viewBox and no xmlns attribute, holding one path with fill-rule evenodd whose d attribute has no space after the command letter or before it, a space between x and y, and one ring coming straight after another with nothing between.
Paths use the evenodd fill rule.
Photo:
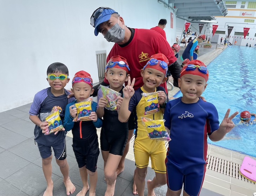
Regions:
<instances>
[{"instance_id":1,"label":"upper yellow Monster snack packet held by child in yellow wetsuit","mask_svg":"<svg viewBox=\"0 0 256 196\"><path fill-rule=\"evenodd\" d=\"M142 96L145 97L145 116L160 111L160 105L158 103L158 92L143 92Z\"/></svg>"}]
</instances>

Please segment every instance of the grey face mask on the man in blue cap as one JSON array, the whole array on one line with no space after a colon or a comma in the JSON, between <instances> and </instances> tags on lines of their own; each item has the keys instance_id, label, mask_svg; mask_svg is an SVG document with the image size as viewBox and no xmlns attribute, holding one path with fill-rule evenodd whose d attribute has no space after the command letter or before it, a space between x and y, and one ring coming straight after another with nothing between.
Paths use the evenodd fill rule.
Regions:
<instances>
[{"instance_id":1,"label":"grey face mask on the man in blue cap","mask_svg":"<svg viewBox=\"0 0 256 196\"><path fill-rule=\"evenodd\" d=\"M119 21L118 21L119 23ZM115 43L119 43L122 42L124 40L124 33L125 30L124 28L122 29L118 23L116 23L116 25L114 25L111 29L109 29L106 33L106 35L104 36L104 38L108 41L108 42L115 42Z\"/></svg>"}]
</instances>

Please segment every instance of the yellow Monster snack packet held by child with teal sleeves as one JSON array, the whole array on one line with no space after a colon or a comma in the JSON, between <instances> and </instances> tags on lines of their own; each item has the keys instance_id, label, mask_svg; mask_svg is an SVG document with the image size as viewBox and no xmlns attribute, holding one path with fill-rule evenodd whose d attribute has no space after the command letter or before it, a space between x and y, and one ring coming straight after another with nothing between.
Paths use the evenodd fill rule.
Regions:
<instances>
[{"instance_id":1,"label":"yellow Monster snack packet held by child with teal sleeves","mask_svg":"<svg viewBox=\"0 0 256 196\"><path fill-rule=\"evenodd\" d=\"M75 104L77 108L77 116L73 119L73 122L77 121L89 121L89 116L92 112L92 97L85 99L83 102Z\"/></svg>"}]
</instances>

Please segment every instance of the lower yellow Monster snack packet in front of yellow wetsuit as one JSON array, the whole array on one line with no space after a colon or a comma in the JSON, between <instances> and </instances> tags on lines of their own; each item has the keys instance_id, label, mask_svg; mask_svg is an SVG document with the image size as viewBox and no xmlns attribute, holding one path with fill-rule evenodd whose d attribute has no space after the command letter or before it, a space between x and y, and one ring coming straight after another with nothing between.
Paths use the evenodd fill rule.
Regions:
<instances>
[{"instance_id":1,"label":"lower yellow Monster snack packet in front of yellow wetsuit","mask_svg":"<svg viewBox=\"0 0 256 196\"><path fill-rule=\"evenodd\" d=\"M165 120L152 120L142 117L142 122L147 129L150 139L170 141L171 138L164 127Z\"/></svg>"}]
</instances>

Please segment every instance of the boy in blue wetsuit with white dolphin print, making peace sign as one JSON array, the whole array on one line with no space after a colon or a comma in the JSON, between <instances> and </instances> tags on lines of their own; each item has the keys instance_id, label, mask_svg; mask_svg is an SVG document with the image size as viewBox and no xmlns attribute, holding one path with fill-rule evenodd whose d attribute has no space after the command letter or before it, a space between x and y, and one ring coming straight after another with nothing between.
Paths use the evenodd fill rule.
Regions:
<instances>
[{"instance_id":1,"label":"boy in blue wetsuit with white dolphin print, making peace sign","mask_svg":"<svg viewBox=\"0 0 256 196\"><path fill-rule=\"evenodd\" d=\"M166 130L170 132L166 157L166 196L180 195L184 184L184 196L198 196L206 171L207 135L212 141L221 140L234 128L228 109L219 125L215 106L204 102L200 96L204 92L209 77L203 62L190 61L180 73L178 85L183 97L167 103L164 119Z\"/></svg>"}]
</instances>

